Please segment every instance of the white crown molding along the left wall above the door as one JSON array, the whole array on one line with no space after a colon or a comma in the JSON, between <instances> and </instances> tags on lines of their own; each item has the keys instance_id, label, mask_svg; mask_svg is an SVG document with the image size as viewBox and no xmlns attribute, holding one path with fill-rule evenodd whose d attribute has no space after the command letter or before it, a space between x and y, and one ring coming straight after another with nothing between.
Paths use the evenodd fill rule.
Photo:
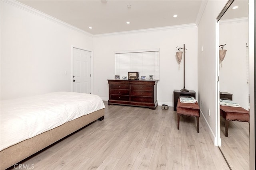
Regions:
<instances>
[{"instance_id":1,"label":"white crown molding along the left wall above the door","mask_svg":"<svg viewBox=\"0 0 256 170\"><path fill-rule=\"evenodd\" d=\"M34 15L40 16L40 17L42 17L42 18L44 18L46 20L50 20L50 21L52 21L54 23L58 23L58 24L60 24L62 26L70 28L70 29L72 29L74 31L78 31L78 32L80 32L82 34L85 34L85 35L89 36L89 37L93 37L92 34L86 32L86 31L84 31L82 29L74 27L73 25L70 25L70 24L68 24L68 23L66 23L64 21L58 20L58 19L56 19L56 18L54 18L52 16L49 16L49 15L43 13L43 12L40 12L40 11L34 9L34 8L31 8L30 6L22 4L22 3L20 3L20 2L18 2L16 0L1 0L1 2L6 2L6 3L8 3L8 4L12 5L12 6L16 6L16 7L20 8L20 9L22 9L22 10L25 10L27 12L30 12L30 13L34 14Z\"/></svg>"}]
</instances>

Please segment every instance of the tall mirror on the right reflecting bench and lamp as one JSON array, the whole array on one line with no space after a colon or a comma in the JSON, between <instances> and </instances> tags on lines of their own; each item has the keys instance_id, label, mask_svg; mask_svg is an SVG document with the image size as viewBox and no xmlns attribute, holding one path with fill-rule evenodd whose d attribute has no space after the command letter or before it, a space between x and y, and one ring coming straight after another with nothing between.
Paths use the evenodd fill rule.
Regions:
<instances>
[{"instance_id":1,"label":"tall mirror on the right reflecting bench and lamp","mask_svg":"<svg viewBox=\"0 0 256 170\"><path fill-rule=\"evenodd\" d=\"M218 21L220 102L230 105L220 106L219 148L232 170L249 170L248 0L229 2Z\"/></svg>"}]
</instances>

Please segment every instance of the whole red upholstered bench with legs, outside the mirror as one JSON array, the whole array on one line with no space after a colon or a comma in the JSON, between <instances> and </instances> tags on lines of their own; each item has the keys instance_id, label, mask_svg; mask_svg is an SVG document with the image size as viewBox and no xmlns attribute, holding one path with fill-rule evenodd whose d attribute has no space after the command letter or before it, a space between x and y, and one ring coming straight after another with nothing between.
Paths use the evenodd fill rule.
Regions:
<instances>
[{"instance_id":1,"label":"whole red upholstered bench with legs, outside the mirror","mask_svg":"<svg viewBox=\"0 0 256 170\"><path fill-rule=\"evenodd\" d=\"M178 129L180 129L180 115L196 117L197 133L199 133L200 108L197 102L195 104L182 103L180 102L180 99L178 99L177 115L178 115Z\"/></svg>"}]
</instances>

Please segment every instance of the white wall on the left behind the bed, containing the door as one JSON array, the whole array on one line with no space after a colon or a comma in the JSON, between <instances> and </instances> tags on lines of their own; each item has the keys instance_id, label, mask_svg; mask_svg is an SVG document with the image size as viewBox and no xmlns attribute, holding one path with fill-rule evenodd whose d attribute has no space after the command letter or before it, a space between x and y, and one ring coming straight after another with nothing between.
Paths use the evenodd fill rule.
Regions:
<instances>
[{"instance_id":1,"label":"white wall on the left behind the bed, containing the door","mask_svg":"<svg viewBox=\"0 0 256 170\"><path fill-rule=\"evenodd\" d=\"M72 46L92 50L92 36L0 3L1 100L71 91Z\"/></svg>"}]
</instances>

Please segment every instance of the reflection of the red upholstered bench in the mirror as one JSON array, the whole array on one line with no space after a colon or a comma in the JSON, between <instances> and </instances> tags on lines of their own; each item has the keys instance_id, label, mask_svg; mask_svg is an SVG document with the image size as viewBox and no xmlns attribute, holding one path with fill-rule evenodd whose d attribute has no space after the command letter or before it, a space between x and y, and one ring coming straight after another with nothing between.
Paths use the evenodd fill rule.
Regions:
<instances>
[{"instance_id":1,"label":"reflection of the red upholstered bench in the mirror","mask_svg":"<svg viewBox=\"0 0 256 170\"><path fill-rule=\"evenodd\" d=\"M225 136L228 137L229 121L249 122L249 111L243 107L220 105L220 116L225 119Z\"/></svg>"}]
</instances>

